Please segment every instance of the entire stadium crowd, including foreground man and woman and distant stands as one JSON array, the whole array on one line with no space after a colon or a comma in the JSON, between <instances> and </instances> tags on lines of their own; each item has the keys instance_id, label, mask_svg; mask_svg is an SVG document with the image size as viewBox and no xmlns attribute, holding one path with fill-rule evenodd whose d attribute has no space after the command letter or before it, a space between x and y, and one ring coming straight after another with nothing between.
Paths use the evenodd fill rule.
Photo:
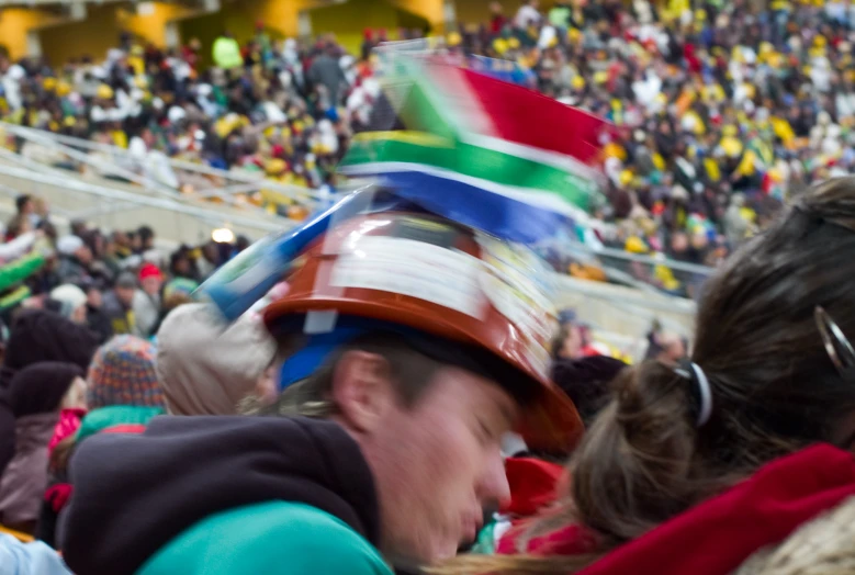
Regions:
<instances>
[{"instance_id":1,"label":"entire stadium crowd, including foreground man and woman and distant stands","mask_svg":"<svg viewBox=\"0 0 855 575\"><path fill-rule=\"evenodd\" d=\"M164 258L148 226L60 234L18 196L0 571L855 571L855 178L834 178L855 161L855 10L755 4L494 3L436 41L616 125L600 243L728 258L690 341L654 325L633 365L556 315L537 258L441 214L390 202L278 238L288 283L226 325L194 292L246 238ZM2 59L4 117L126 147L177 189L195 183L164 158L333 189L372 127L383 40L367 32L357 58L259 25L217 38L211 69L209 47L130 37L61 70ZM233 267L227 293L254 294L270 264Z\"/></svg>"}]
</instances>

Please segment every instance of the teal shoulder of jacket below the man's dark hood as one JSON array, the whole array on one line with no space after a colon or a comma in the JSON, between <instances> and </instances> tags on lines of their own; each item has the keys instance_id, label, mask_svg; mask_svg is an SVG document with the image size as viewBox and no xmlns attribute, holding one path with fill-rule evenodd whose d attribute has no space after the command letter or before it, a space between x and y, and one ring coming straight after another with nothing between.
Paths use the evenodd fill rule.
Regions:
<instances>
[{"instance_id":1,"label":"teal shoulder of jacket below the man's dark hood","mask_svg":"<svg viewBox=\"0 0 855 575\"><path fill-rule=\"evenodd\" d=\"M304 504L268 501L213 515L160 549L137 575L393 575L362 535Z\"/></svg>"}]
</instances>

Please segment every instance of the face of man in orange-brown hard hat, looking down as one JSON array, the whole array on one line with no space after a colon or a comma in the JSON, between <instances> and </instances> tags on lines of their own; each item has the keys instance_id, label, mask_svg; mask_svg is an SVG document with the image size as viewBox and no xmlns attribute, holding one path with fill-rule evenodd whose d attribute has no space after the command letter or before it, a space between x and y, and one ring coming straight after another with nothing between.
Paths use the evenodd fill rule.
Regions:
<instances>
[{"instance_id":1,"label":"face of man in orange-brown hard hat, looking down","mask_svg":"<svg viewBox=\"0 0 855 575\"><path fill-rule=\"evenodd\" d=\"M510 497L499 442L516 417L510 395L457 368L441 368L415 406L393 402L364 444L390 559L431 563L474 541L483 507Z\"/></svg>"}]
</instances>

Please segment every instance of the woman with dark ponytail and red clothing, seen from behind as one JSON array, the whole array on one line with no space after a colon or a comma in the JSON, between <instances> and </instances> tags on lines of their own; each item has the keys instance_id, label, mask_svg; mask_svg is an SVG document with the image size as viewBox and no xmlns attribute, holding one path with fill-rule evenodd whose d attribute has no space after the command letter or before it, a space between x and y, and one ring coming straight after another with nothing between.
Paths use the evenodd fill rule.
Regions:
<instances>
[{"instance_id":1,"label":"woman with dark ponytail and red clothing, seen from behind","mask_svg":"<svg viewBox=\"0 0 855 575\"><path fill-rule=\"evenodd\" d=\"M853 262L855 178L832 180L710 279L687 360L617 376L522 555L434 573L852 573Z\"/></svg>"}]
</instances>

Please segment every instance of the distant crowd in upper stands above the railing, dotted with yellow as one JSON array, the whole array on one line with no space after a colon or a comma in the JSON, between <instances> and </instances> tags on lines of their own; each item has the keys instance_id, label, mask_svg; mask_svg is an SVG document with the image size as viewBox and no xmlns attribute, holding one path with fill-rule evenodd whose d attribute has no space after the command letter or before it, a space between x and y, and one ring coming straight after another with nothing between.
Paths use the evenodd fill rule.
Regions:
<instances>
[{"instance_id":1,"label":"distant crowd in upper stands above the railing, dotted with yellow","mask_svg":"<svg viewBox=\"0 0 855 575\"><path fill-rule=\"evenodd\" d=\"M786 195L852 169L854 21L843 1L638 0L628 9L574 0L542 11L530 0L516 13L493 2L483 24L434 45L504 61L480 66L510 66L515 81L619 128L603 142L596 216L616 224L599 238L606 246L715 266ZM372 49L385 40L365 31L361 54L350 55L330 36L273 40L262 22L243 44L225 32L213 46L180 50L126 36L104 61L0 59L0 110L10 122L127 148L173 188L198 182L164 155L331 190L337 160L381 98ZM201 69L202 50L215 66ZM274 191L247 200L306 215L292 205L299 199ZM648 275L686 293L673 274Z\"/></svg>"}]
</instances>

